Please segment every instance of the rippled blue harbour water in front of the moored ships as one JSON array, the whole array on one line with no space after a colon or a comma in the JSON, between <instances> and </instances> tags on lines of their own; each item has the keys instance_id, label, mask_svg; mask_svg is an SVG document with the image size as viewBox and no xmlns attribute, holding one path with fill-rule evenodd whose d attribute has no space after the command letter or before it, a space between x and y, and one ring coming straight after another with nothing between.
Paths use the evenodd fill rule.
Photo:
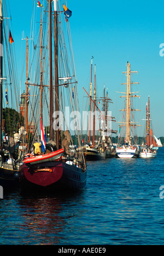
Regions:
<instances>
[{"instance_id":1,"label":"rippled blue harbour water in front of the moored ships","mask_svg":"<svg viewBox=\"0 0 164 256\"><path fill-rule=\"evenodd\" d=\"M156 159L107 159L87 167L80 193L5 193L0 245L164 245L164 148Z\"/></svg>"}]
</instances>

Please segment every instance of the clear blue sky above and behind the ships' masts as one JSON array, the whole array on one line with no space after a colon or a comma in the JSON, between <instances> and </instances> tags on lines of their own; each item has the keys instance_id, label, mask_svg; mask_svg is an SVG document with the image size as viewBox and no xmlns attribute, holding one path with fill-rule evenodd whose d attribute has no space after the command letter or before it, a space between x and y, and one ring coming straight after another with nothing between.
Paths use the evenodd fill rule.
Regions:
<instances>
[{"instance_id":1,"label":"clear blue sky above and behind the ships' masts","mask_svg":"<svg viewBox=\"0 0 164 256\"><path fill-rule=\"evenodd\" d=\"M43 4L44 1L40 0ZM17 69L21 74L26 47L26 43L21 40L22 31L25 31L25 36L30 36L33 0L8 2L13 22ZM37 1L34 2L37 5ZM102 96L105 84L114 102L110 110L119 121L119 108L122 108L123 102L115 91L125 90L121 85L125 82L122 72L126 71L126 63L129 61L131 69L139 72L135 74L134 82L140 84L133 89L139 90L141 96L140 100L137 99L137 106L142 112L137 121L144 125L142 119L145 118L145 104L150 95L154 133L157 137L164 136L164 56L159 54L160 44L164 43L164 2L68 0L67 7L72 10L69 24L81 107L82 97L85 96L83 86L89 88L93 56L98 95ZM37 15L39 21L38 12ZM140 131L143 131L143 128L140 128Z\"/></svg>"}]
</instances>

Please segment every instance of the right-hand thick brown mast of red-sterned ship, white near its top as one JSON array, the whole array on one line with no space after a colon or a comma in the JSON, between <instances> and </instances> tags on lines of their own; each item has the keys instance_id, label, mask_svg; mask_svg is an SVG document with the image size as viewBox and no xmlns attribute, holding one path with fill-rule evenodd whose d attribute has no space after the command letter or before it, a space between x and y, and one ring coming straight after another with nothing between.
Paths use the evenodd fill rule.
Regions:
<instances>
[{"instance_id":1,"label":"right-hand thick brown mast of red-sterned ship, white near its top","mask_svg":"<svg viewBox=\"0 0 164 256\"><path fill-rule=\"evenodd\" d=\"M54 37L55 37L55 111L59 110L59 97L58 97L58 34L57 34L57 7L56 0L54 0ZM56 147L59 149L59 130L56 129Z\"/></svg>"}]
</instances>

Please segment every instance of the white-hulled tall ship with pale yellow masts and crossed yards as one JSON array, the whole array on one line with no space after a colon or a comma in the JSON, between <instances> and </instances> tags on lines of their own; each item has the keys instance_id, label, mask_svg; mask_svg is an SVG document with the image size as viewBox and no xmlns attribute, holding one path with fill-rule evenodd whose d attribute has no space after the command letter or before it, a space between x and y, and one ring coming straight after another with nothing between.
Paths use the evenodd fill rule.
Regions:
<instances>
[{"instance_id":1,"label":"white-hulled tall ship with pale yellow masts and crossed yards","mask_svg":"<svg viewBox=\"0 0 164 256\"><path fill-rule=\"evenodd\" d=\"M122 129L122 127L125 127L126 132L125 132L125 137L124 137L125 141L124 141L124 144L122 143L122 145L120 145L121 136L120 136L120 132L119 132L119 144L116 147L116 157L117 158L138 158L139 157L139 147L138 147L138 144L136 141L136 136L133 134L133 139L131 136L132 135L131 127L140 126L140 125L137 125L136 122L131 120L131 117L133 117L132 112L140 111L139 109L133 109L132 101L131 101L131 98L133 98L133 97L140 97L140 96L136 95L137 92L131 91L131 85L138 84L138 83L133 83L131 81L131 73L138 73L138 72L131 71L131 65L129 62L127 62L127 71L123 72L123 73L125 73L127 76L126 83L123 83L126 85L126 92L121 92L125 95L120 96L120 97L126 98L126 107L125 107L125 109L121 109L120 111L126 113L126 115L125 115L124 122L121 122L120 130ZM133 140L134 140L134 142L133 142Z\"/></svg>"}]
</instances>

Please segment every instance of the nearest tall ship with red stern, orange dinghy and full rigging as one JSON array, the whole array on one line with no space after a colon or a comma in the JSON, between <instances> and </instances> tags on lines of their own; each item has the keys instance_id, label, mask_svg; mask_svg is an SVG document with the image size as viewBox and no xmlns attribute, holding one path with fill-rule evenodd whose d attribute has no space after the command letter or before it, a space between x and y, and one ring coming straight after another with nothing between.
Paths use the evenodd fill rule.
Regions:
<instances>
[{"instance_id":1,"label":"nearest tall ship with red stern, orange dinghy and full rigging","mask_svg":"<svg viewBox=\"0 0 164 256\"><path fill-rule=\"evenodd\" d=\"M82 150L78 152L71 150L71 148L74 148L74 141L71 135L71 125L68 125L69 114L66 113L67 106L71 108L71 113L79 111L77 78L69 27L69 18L71 18L72 11L66 7L66 3L63 4L57 0L46 1L45 7L38 1L38 7L41 11L40 40L38 40L40 44L36 46L36 49L41 50L41 54L38 55L40 56L40 70L38 72L40 74L40 83L35 82L33 86L40 97L38 98L38 107L36 109L32 108L32 114L35 118L35 131L30 138L26 136L26 142L28 143L29 139L31 139L31 143L26 148L25 157L22 159L22 165L19 168L20 186L22 190L27 192L31 190L83 190L86 187L86 162ZM42 19L43 9L44 16ZM44 26L45 24L49 24L48 32L43 31L43 28L47 28L47 26ZM64 28L65 31L63 31ZM52 38L53 35L54 38ZM68 38L66 38L66 35ZM43 43L46 43L47 36L49 44L45 47ZM66 42L71 46L71 50L66 49ZM54 53L54 62L52 61L52 53ZM71 53L71 57L67 55L68 53ZM71 63L69 60L71 60ZM69 66L71 64L72 66ZM47 67L49 67L49 70L45 72ZM38 74L36 74L37 77ZM49 75L49 77L46 77L46 75ZM49 84L46 82L49 82ZM25 101L27 110L28 86L30 86L28 70L26 86ZM47 98L44 98L48 93L49 102ZM68 97L67 100L66 96ZM36 104L36 102L34 103ZM45 107L48 107L46 114L44 113ZM36 113L34 113L35 111ZM54 117L54 115L56 116ZM29 116L32 117L32 115L26 114L27 131L29 124L27 118ZM43 123L48 120L48 131L46 131ZM79 129L75 124L72 126L74 126L74 133L80 144ZM36 136L38 133L40 135Z\"/></svg>"}]
</instances>

